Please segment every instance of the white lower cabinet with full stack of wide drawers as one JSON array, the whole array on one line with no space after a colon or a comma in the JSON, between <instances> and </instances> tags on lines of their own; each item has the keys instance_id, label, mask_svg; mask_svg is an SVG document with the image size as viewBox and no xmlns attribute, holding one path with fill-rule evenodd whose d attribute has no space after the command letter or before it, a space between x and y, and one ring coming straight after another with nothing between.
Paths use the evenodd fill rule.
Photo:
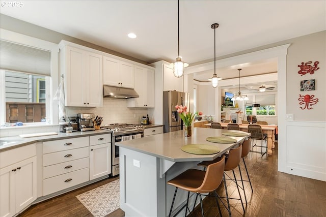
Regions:
<instances>
[{"instance_id":1,"label":"white lower cabinet with full stack of wide drawers","mask_svg":"<svg viewBox=\"0 0 326 217\"><path fill-rule=\"evenodd\" d=\"M43 142L43 196L89 181L89 137Z\"/></svg>"}]
</instances>

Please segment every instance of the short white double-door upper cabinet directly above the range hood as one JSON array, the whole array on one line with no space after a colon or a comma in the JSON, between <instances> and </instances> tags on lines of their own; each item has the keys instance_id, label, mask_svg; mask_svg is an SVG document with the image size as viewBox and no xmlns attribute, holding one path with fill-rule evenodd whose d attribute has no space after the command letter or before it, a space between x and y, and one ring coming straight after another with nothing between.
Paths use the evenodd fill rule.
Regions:
<instances>
[{"instance_id":1,"label":"short white double-door upper cabinet directly above the range hood","mask_svg":"<svg viewBox=\"0 0 326 217\"><path fill-rule=\"evenodd\" d=\"M116 58L103 58L103 84L134 88L134 66Z\"/></svg>"}]
</instances>

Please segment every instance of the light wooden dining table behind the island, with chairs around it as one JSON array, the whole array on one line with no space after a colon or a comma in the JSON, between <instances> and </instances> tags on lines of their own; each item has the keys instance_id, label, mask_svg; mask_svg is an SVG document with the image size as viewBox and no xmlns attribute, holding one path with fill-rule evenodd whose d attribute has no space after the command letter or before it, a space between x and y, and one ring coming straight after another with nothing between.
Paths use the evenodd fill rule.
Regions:
<instances>
[{"instance_id":1,"label":"light wooden dining table behind the island, with chairs around it","mask_svg":"<svg viewBox=\"0 0 326 217\"><path fill-rule=\"evenodd\" d=\"M228 124L225 122L220 122L223 129L228 129ZM248 132L248 126L250 124L241 123L238 124L241 131ZM207 128L211 128L211 123L206 123ZM275 135L278 134L277 125L259 125L263 133L267 134L267 154L272 155L275 148Z\"/></svg>"}]
</instances>

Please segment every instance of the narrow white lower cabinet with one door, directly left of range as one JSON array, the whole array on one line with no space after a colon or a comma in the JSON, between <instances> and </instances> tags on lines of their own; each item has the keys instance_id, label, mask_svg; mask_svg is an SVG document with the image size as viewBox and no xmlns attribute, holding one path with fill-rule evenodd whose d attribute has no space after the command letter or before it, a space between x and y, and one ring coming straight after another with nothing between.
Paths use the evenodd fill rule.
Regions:
<instances>
[{"instance_id":1,"label":"narrow white lower cabinet with one door, directly left of range","mask_svg":"<svg viewBox=\"0 0 326 217\"><path fill-rule=\"evenodd\" d=\"M90 136L90 180L111 173L111 134Z\"/></svg>"}]
</instances>

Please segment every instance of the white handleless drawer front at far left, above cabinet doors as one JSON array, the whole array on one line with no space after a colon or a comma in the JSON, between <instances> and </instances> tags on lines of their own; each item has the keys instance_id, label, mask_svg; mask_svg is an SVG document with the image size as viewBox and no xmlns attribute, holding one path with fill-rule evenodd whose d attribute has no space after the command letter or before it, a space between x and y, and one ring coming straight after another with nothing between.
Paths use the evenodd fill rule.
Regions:
<instances>
[{"instance_id":1,"label":"white handleless drawer front at far left, above cabinet doors","mask_svg":"<svg viewBox=\"0 0 326 217\"><path fill-rule=\"evenodd\" d=\"M0 153L0 168L23 161L36 156L36 145L25 145Z\"/></svg>"}]
</instances>

